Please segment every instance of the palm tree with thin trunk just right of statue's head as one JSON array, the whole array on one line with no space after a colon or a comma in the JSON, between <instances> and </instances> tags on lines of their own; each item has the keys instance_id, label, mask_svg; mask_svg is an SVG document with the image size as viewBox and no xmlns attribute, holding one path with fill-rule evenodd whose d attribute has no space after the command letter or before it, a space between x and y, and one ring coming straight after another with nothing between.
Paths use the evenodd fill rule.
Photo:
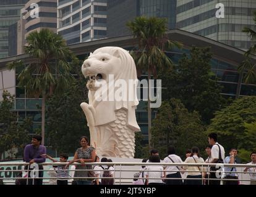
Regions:
<instances>
[{"instance_id":1,"label":"palm tree with thin trunk just right of statue's head","mask_svg":"<svg viewBox=\"0 0 256 197\"><path fill-rule=\"evenodd\" d=\"M127 26L139 43L139 50L133 52L137 71L140 76L142 73L148 74L148 84L153 74L156 78L157 72L164 66L172 66L173 62L164 53L164 49L171 49L174 46L181 47L176 41L168 38L168 25L166 18L156 17L137 17L128 22ZM148 145L151 148L151 108L150 95L148 88Z\"/></svg>"}]
</instances>

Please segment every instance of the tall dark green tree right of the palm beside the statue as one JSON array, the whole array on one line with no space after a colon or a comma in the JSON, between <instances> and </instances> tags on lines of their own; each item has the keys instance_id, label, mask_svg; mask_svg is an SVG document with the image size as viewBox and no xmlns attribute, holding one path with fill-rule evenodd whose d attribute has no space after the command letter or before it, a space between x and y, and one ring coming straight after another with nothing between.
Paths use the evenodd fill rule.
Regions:
<instances>
[{"instance_id":1,"label":"tall dark green tree right of the palm beside the statue","mask_svg":"<svg viewBox=\"0 0 256 197\"><path fill-rule=\"evenodd\" d=\"M204 123L209 124L213 113L226 105L221 86L211 73L210 48L192 47L190 55L183 54L173 70L165 70L162 79L163 100L178 98L190 111L198 111Z\"/></svg>"}]
</instances>

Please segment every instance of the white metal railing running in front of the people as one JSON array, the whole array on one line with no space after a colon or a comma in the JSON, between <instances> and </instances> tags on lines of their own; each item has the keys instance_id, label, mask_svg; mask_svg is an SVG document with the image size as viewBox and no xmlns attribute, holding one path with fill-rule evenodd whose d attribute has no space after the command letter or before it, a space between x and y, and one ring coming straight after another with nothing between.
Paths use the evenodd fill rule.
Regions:
<instances>
[{"instance_id":1,"label":"white metal railing running in front of the people","mask_svg":"<svg viewBox=\"0 0 256 197\"><path fill-rule=\"evenodd\" d=\"M10 162L10 163L0 163L0 180L3 180L4 184L15 184L15 180L16 179L34 179L31 177L10 177L10 175L8 176L4 176L7 175L7 173L12 172L12 174L14 174L14 172L27 172L28 173L28 169L27 170L22 170L22 169L17 169L17 166L24 166L24 165L28 165L29 163L15 163L15 162ZM35 170L36 171L43 171L43 172L48 172L51 171L49 170L49 167L51 166L66 166L67 163L42 163L40 165L45 166L43 170ZM74 163L71 164L72 165L81 165L80 163ZM226 181L237 181L237 179L224 179L224 173L231 173L230 171L224 171L224 167L236 167L236 174L238 174L238 180L241 184L249 184L250 182L250 177L249 174L256 174L256 172L244 172L245 167L256 167L255 165L249 165L249 164L219 164L219 166L221 166L221 169L219 172L220 177L218 179L210 179L209 177L207 179L205 178L200 178L200 179L194 179L194 178L187 178L184 176L184 174L186 174L187 172L200 172L200 173L207 173L209 174L210 172L215 172L215 171L210 171L210 167L211 166L216 166L216 164L210 164L210 163L121 163L121 162L111 162L111 163L85 163L85 165L91 165L91 166L113 166L114 167L114 184L116 185L121 185L121 184L132 184L132 181L134 179L146 179L145 177L134 177L134 174L136 172L141 171L141 166L178 166L178 167L184 167L184 166L198 166L201 167L202 170L199 171L188 171L188 170L181 170L179 172L181 172L182 174L182 178L166 178L164 177L165 180L168 179L173 179L173 180L206 180L207 182L209 182L210 180L226 180ZM15 169L11 169L9 166L15 166ZM9 167L9 169L2 169L4 167ZM31 171L31 170L30 170ZM69 172L72 171L95 171L93 169L68 169ZM96 170L96 171L105 171L105 170ZM147 167L145 168L145 170L143 170L144 172L150 172L147 170ZM161 172L161 171L155 171L155 172ZM164 170L164 172L177 172L177 171L166 171ZM232 172L234 173L234 172ZM4 174L4 175L2 175ZM46 174L45 174L46 175ZM71 184L72 180L76 180L76 179L89 179L89 180L93 180L95 179L95 177L65 177L65 178L57 178L57 177L46 177L44 175L44 177L40 177L40 179L43 179L43 183L44 184L48 184L50 179L65 179L65 180L69 180L69 184ZM111 179L111 177L98 177L100 179ZM161 178L150 178L150 179L161 179Z\"/></svg>"}]
</instances>

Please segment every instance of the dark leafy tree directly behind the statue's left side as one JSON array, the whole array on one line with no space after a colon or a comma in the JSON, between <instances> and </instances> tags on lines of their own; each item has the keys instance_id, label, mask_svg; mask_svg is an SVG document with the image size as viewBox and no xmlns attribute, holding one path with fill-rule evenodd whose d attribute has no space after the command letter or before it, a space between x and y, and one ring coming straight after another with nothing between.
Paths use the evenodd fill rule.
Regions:
<instances>
[{"instance_id":1,"label":"dark leafy tree directly behind the statue's left side","mask_svg":"<svg viewBox=\"0 0 256 197\"><path fill-rule=\"evenodd\" d=\"M74 82L63 94L53 94L47 102L46 129L49 144L60 152L74 153L79 147L79 138L89 136L85 115L80 103L88 102L85 78L80 71L82 63L73 63ZM94 145L93 145L94 146Z\"/></svg>"}]
</instances>

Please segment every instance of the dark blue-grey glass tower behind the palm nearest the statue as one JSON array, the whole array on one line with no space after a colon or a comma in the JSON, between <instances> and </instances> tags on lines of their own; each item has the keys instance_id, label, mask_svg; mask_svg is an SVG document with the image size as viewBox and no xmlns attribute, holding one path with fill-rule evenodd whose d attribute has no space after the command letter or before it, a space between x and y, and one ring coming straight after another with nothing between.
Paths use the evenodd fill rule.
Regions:
<instances>
[{"instance_id":1,"label":"dark blue-grey glass tower behind the palm nearest the statue","mask_svg":"<svg viewBox=\"0 0 256 197\"><path fill-rule=\"evenodd\" d=\"M167 18L168 28L176 26L177 0L108 0L107 37L129 35L126 23L135 17Z\"/></svg>"}]
</instances>

